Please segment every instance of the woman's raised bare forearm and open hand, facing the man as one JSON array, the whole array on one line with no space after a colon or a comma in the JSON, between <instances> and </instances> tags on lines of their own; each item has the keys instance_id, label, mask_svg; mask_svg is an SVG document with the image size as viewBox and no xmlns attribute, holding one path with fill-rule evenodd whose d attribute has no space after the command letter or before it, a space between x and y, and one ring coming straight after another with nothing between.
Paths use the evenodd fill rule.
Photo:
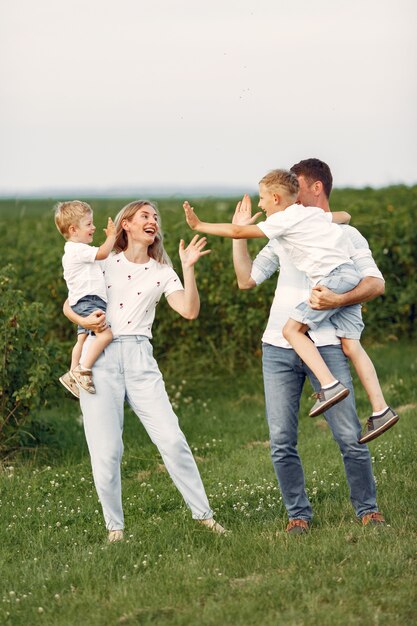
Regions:
<instances>
[{"instance_id":1,"label":"woman's raised bare forearm and open hand, facing the man","mask_svg":"<svg viewBox=\"0 0 417 626\"><path fill-rule=\"evenodd\" d=\"M182 264L184 289L171 293L167 297L167 301L174 311L188 320L196 319L200 312L200 296L198 295L195 280L194 265L202 256L210 254L210 250L203 250L206 243L206 238L202 237L200 239L198 235L191 240L187 247L185 247L183 239L180 241L179 255Z\"/></svg>"}]
</instances>

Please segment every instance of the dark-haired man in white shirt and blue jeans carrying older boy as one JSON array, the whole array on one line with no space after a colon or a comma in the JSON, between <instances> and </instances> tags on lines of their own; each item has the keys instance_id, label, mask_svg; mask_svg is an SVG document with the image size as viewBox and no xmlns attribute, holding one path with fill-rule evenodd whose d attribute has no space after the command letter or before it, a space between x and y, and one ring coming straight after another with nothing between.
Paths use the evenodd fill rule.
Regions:
<instances>
[{"instance_id":1,"label":"dark-haired man in white shirt and blue jeans carrying older boy","mask_svg":"<svg viewBox=\"0 0 417 626\"><path fill-rule=\"evenodd\" d=\"M332 175L326 163L306 159L294 165L300 190L298 202L330 211L329 196ZM259 214L258 214L259 215ZM238 205L233 222L253 223L248 202ZM371 300L384 293L384 280L378 270L367 241L351 226L343 226L354 247L363 250L360 267L361 282L344 294L335 294L326 287L315 287L310 295L305 274L299 272L285 253L279 240L272 239L252 263L244 239L233 241L233 262L240 289L251 289L272 276L278 269L278 284L271 306L263 341L263 377L266 413L270 431L271 456L281 488L289 523L286 531L304 533L309 529L312 508L308 500L304 472L297 451L298 411L304 381L308 376L316 391L320 385L312 372L297 356L282 335L292 309L310 299L313 308L329 309ZM350 498L356 515L363 524L383 524L378 512L375 480L371 458L366 446L358 443L361 425L356 413L352 379L345 355L330 322L309 332L330 371L350 390L349 396L325 413L333 437L342 453Z\"/></svg>"}]
</instances>

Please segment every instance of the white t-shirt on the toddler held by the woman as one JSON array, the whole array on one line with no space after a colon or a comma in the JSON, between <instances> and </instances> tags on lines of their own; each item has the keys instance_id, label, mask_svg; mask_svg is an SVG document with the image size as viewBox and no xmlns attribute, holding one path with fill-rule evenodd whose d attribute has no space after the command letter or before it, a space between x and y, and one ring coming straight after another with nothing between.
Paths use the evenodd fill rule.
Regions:
<instances>
[{"instance_id":1,"label":"white t-shirt on the toddler held by the woman","mask_svg":"<svg viewBox=\"0 0 417 626\"><path fill-rule=\"evenodd\" d=\"M103 271L100 262L96 261L97 250L96 246L74 241L67 241L64 246L62 266L70 306L84 296L99 296L107 301Z\"/></svg>"}]
</instances>

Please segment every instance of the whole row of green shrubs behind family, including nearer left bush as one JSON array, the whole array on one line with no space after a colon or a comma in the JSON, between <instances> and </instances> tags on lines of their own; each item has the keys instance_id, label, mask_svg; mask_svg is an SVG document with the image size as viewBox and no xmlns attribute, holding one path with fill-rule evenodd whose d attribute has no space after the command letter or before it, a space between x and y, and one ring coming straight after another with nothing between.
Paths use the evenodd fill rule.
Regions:
<instances>
[{"instance_id":1,"label":"whole row of green shrubs behind family, including nearer left bush","mask_svg":"<svg viewBox=\"0 0 417 626\"><path fill-rule=\"evenodd\" d=\"M126 201L90 201L98 227L95 243L101 243L100 225L114 217ZM255 200L256 201L256 200ZM159 204L165 242L180 272L178 243L189 240L180 199ZM204 219L230 220L235 199L195 201ZM45 399L53 397L58 374L65 371L74 327L63 317L66 287L62 278L63 239L53 222L54 200L0 201L0 349L1 424L0 453L30 437L16 433L17 425ZM374 258L386 279L386 293L367 303L363 313L365 342L415 337L417 283L417 187L335 190L332 206L352 214L352 224L368 239ZM262 242L249 242L255 255ZM230 241L212 238L212 254L197 266L202 300L198 320L185 322L159 305L154 324L154 344L159 358L181 368L204 362L204 371L219 367L233 370L259 353L275 290L271 278L256 290L237 289L231 261Z\"/></svg>"}]
</instances>

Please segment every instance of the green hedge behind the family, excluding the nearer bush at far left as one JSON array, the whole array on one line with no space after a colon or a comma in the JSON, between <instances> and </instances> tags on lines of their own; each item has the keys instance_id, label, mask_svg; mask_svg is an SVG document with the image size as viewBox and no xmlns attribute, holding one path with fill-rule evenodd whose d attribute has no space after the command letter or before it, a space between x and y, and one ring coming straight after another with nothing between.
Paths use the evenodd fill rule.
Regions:
<instances>
[{"instance_id":1,"label":"green hedge behind the family, excluding the nearer bush at far left","mask_svg":"<svg viewBox=\"0 0 417 626\"><path fill-rule=\"evenodd\" d=\"M114 217L130 199L86 199L94 209L97 226L95 243L103 241L101 229L107 216ZM191 200L191 199L190 199ZM194 205L203 219L229 221L237 199L196 199ZM257 199L254 198L254 204ZM26 304L42 302L48 340L56 341L56 359L69 359L75 328L62 314L66 286L61 256L64 240L57 232L52 207L54 199L0 201L0 246L3 263L13 263ZM181 273L178 243L190 241L182 199L158 202L166 233L166 248L175 269ZM385 189L335 189L331 197L335 210L352 214L352 224L368 239L374 258L386 279L386 292L363 308L364 341L387 338L414 338L416 334L417 187ZM254 256L263 241L250 241ZM164 299L157 312L153 332L156 353L169 357L181 367L201 367L202 362L241 367L248 355L259 352L260 338L269 314L276 279L255 290L239 291L232 264L231 243L209 238L212 254L196 266L201 297L197 320L186 322L167 306ZM29 271L28 271L29 268ZM199 363L197 365L196 363Z\"/></svg>"}]
</instances>

